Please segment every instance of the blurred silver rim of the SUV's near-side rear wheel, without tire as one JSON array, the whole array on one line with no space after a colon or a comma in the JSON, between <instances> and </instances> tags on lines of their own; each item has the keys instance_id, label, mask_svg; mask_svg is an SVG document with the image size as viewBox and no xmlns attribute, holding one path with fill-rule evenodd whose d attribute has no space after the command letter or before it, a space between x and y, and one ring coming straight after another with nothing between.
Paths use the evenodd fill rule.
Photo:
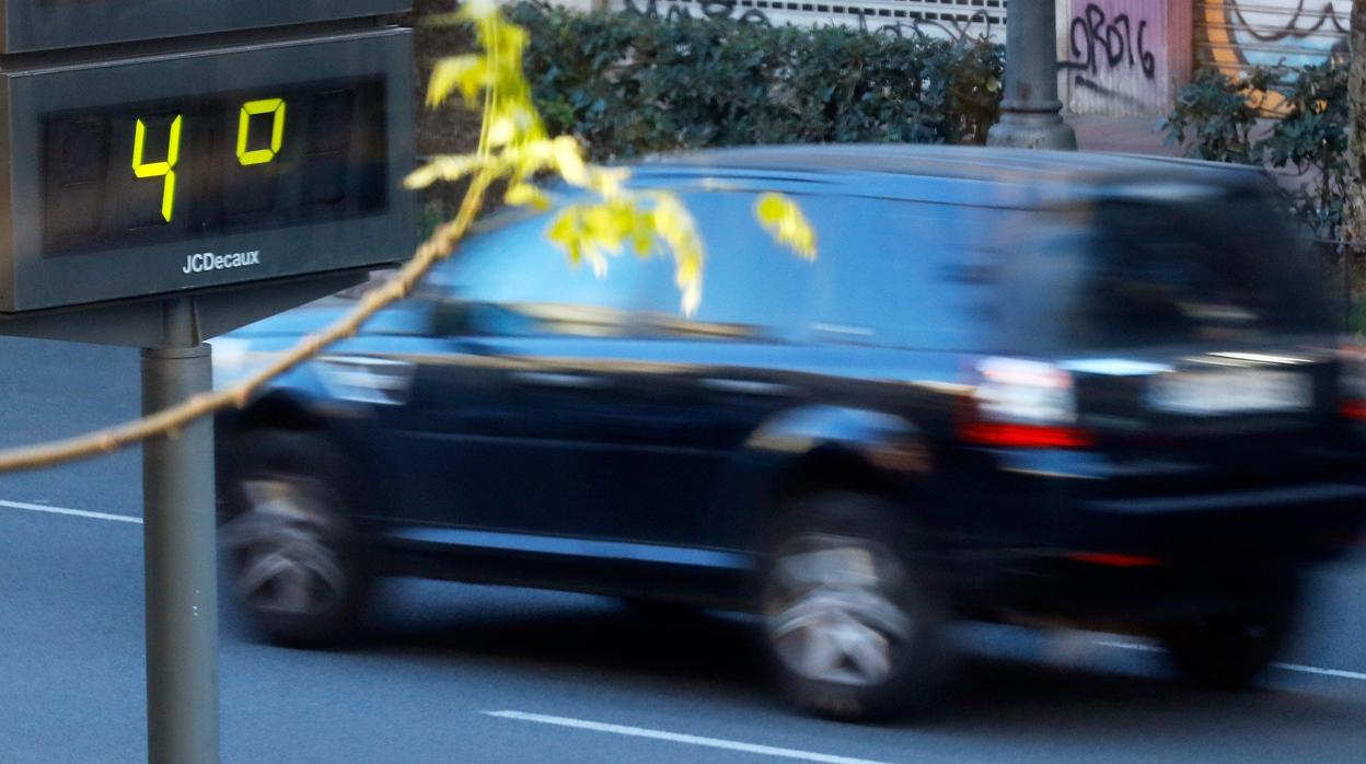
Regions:
<instances>
[{"instance_id":1,"label":"blurred silver rim of the SUV's near-side rear wheel, without tire","mask_svg":"<svg viewBox=\"0 0 1366 764\"><path fill-rule=\"evenodd\" d=\"M779 660L818 682L887 681L915 627L906 584L904 569L881 544L803 536L773 563L765 616Z\"/></svg>"}]
</instances>

